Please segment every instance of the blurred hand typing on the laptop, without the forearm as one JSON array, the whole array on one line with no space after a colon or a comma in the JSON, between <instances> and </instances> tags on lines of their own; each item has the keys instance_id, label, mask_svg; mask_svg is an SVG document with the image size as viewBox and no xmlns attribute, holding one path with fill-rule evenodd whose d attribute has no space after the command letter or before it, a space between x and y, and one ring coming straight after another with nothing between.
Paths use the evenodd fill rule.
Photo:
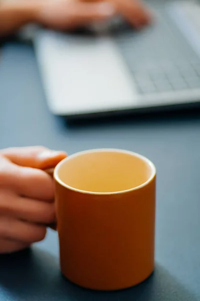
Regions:
<instances>
[{"instance_id":1,"label":"blurred hand typing on the laptop, without the forearm","mask_svg":"<svg viewBox=\"0 0 200 301\"><path fill-rule=\"evenodd\" d=\"M148 25L151 20L148 9L140 0L51 0L40 6L36 20L54 29L71 30L96 21L105 21L116 14L122 15L137 29Z\"/></svg>"}]
</instances>

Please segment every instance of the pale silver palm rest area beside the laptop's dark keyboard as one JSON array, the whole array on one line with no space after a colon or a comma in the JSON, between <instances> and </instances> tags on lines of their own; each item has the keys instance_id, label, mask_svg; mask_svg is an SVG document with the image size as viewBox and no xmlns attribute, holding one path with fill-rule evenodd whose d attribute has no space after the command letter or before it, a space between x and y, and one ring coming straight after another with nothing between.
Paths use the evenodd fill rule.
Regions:
<instances>
[{"instance_id":1,"label":"pale silver palm rest area beside the laptop's dark keyboard","mask_svg":"<svg viewBox=\"0 0 200 301\"><path fill-rule=\"evenodd\" d=\"M109 37L44 31L35 46L54 113L126 109L137 103L129 70Z\"/></svg>"}]
</instances>

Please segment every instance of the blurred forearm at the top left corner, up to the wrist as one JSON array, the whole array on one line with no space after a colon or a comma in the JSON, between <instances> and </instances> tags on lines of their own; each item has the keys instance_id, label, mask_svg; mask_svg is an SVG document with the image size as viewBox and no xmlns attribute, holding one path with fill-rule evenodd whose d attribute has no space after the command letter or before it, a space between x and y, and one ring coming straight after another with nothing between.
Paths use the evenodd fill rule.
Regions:
<instances>
[{"instance_id":1,"label":"blurred forearm at the top left corner, up to the wrist","mask_svg":"<svg viewBox=\"0 0 200 301\"><path fill-rule=\"evenodd\" d=\"M38 4L28 1L0 3L0 37L16 32L27 23L35 22Z\"/></svg>"}]
</instances>

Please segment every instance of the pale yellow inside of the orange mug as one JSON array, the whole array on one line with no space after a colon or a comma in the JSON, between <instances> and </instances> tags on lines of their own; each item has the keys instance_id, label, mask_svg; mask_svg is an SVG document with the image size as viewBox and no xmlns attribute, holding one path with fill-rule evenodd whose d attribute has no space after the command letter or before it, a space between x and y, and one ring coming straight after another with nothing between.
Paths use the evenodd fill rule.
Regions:
<instances>
[{"instance_id":1,"label":"pale yellow inside of the orange mug","mask_svg":"<svg viewBox=\"0 0 200 301\"><path fill-rule=\"evenodd\" d=\"M137 154L91 150L69 156L55 169L63 186L93 193L122 192L145 184L155 173L153 164Z\"/></svg>"}]
</instances>

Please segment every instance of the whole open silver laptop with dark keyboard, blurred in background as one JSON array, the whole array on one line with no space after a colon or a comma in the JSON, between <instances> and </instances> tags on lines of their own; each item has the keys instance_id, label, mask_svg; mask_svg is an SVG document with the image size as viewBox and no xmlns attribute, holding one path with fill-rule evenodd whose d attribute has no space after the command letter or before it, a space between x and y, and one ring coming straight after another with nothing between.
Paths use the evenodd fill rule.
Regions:
<instances>
[{"instance_id":1,"label":"whole open silver laptop with dark keyboard, blurred in background","mask_svg":"<svg viewBox=\"0 0 200 301\"><path fill-rule=\"evenodd\" d=\"M200 104L200 1L147 1L155 22L74 33L39 29L36 59L49 110L70 118Z\"/></svg>"}]
</instances>

